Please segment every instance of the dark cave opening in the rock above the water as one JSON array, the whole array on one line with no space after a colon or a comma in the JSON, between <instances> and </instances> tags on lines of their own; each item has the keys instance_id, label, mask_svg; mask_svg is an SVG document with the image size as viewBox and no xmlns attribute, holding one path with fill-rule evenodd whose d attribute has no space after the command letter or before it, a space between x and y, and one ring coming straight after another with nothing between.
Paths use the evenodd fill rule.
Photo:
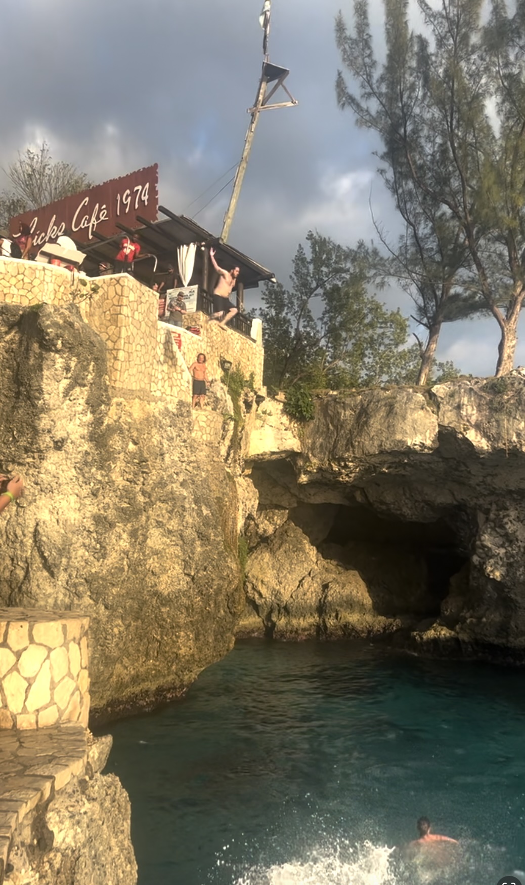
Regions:
<instances>
[{"instance_id":1,"label":"dark cave opening in the rock above the water","mask_svg":"<svg viewBox=\"0 0 525 885\"><path fill-rule=\"evenodd\" d=\"M451 579L468 564L451 519L386 519L343 504L299 504L288 518L323 558L361 573L378 614L436 618Z\"/></svg>"}]
</instances>

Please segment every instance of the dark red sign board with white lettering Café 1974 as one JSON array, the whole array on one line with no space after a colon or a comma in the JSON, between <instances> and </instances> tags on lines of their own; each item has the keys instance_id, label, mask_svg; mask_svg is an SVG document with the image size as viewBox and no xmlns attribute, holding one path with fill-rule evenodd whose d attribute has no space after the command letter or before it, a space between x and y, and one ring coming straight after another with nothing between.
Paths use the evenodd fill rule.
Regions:
<instances>
[{"instance_id":1,"label":"dark red sign board with white lettering Caf\u00e9 1974","mask_svg":"<svg viewBox=\"0 0 525 885\"><path fill-rule=\"evenodd\" d=\"M141 227L135 216L156 221L158 206L158 166L147 166L137 172L104 181L80 194L31 209L11 219L11 236L16 240L20 221L31 229L34 247L53 242L65 232L77 242L91 242L95 231L103 236L118 234L116 222L126 227Z\"/></svg>"}]
</instances>

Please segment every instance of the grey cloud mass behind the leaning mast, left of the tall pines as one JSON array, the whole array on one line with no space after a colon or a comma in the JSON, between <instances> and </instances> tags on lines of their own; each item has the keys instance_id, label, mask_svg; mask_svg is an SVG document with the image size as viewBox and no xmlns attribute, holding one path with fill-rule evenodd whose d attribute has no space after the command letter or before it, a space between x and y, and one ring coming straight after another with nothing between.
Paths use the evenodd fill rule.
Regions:
<instances>
[{"instance_id":1,"label":"grey cloud mass behind the leaning mast, left of the tall pines","mask_svg":"<svg viewBox=\"0 0 525 885\"><path fill-rule=\"evenodd\" d=\"M240 157L262 60L260 5L20 0L3 17L0 76L6 81L14 73L16 84L3 96L4 157L47 134L55 153L57 144L96 181L130 163L158 160L164 202L169 197L184 211ZM337 0L331 5L274 0L271 58L291 68L288 82L300 104L262 116L235 222L239 231L245 219L253 227L260 207L274 199L274 227L286 226L315 197L325 166L343 173L353 162L352 121L335 103ZM363 209L368 212L366 204ZM217 228L221 214L214 206L200 220ZM293 248L304 233L294 236ZM281 241L283 260L288 248Z\"/></svg>"}]
</instances>

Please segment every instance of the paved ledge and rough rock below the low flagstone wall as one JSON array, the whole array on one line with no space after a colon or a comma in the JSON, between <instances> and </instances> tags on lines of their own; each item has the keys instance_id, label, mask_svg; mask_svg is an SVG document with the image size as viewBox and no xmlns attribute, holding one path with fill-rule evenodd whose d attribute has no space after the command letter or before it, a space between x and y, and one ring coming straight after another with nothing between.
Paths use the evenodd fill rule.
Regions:
<instances>
[{"instance_id":1,"label":"paved ledge and rough rock below the low flagstone wall","mask_svg":"<svg viewBox=\"0 0 525 885\"><path fill-rule=\"evenodd\" d=\"M129 797L101 774L111 743L75 723L0 732L0 883L135 885Z\"/></svg>"}]
</instances>

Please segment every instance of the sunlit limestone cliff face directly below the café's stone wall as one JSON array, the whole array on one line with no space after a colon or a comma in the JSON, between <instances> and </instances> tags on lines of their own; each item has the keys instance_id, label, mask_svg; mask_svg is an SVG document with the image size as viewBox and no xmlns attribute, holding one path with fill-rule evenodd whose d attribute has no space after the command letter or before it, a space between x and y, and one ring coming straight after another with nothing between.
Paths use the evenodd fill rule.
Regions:
<instances>
[{"instance_id":1,"label":"sunlit limestone cliff face directly below the caf\u00e9's stone wall","mask_svg":"<svg viewBox=\"0 0 525 885\"><path fill-rule=\"evenodd\" d=\"M187 404L110 389L74 306L0 304L0 604L91 616L95 712L176 696L232 646L237 492Z\"/></svg>"}]
</instances>

